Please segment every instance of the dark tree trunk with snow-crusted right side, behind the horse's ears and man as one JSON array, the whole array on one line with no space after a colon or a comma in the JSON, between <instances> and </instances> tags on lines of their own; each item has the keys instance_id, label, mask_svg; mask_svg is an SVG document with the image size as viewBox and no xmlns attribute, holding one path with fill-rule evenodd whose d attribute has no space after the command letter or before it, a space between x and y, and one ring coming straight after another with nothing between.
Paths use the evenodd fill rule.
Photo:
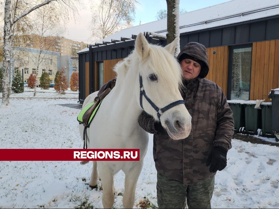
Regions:
<instances>
[{"instance_id":1,"label":"dark tree trunk with snow-crusted right side, behind the horse's ears and man","mask_svg":"<svg viewBox=\"0 0 279 209\"><path fill-rule=\"evenodd\" d=\"M167 44L170 44L178 37L176 44L175 57L180 52L180 30L179 30L179 0L167 1Z\"/></svg>"}]
</instances>

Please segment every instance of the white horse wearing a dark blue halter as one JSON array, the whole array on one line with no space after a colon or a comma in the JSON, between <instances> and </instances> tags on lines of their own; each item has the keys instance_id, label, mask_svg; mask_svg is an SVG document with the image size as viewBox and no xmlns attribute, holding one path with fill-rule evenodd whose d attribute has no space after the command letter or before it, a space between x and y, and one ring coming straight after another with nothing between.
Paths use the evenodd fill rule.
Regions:
<instances>
[{"instance_id":1,"label":"white horse wearing a dark blue halter","mask_svg":"<svg viewBox=\"0 0 279 209\"><path fill-rule=\"evenodd\" d=\"M149 45L144 35L140 33L136 38L133 53L115 66L117 72L115 87L104 98L87 129L90 149L140 149L140 161L98 162L104 208L113 206L115 198L113 176L120 170L125 173L123 208L133 208L135 204L136 183L142 170L149 139L137 121L143 108L155 120L160 120L172 139L183 139L190 133L191 116L185 108L184 101L181 101L179 92L182 75L180 66L174 58L176 42L177 39L164 48ZM140 99L141 94L148 96L153 107L148 99L142 96ZM92 102L95 96L97 92L90 94L85 99L83 107ZM156 109L154 106L162 109ZM83 138L83 125L79 125L79 131ZM97 162L93 161L89 183L91 187L97 185L97 178Z\"/></svg>"}]
</instances>

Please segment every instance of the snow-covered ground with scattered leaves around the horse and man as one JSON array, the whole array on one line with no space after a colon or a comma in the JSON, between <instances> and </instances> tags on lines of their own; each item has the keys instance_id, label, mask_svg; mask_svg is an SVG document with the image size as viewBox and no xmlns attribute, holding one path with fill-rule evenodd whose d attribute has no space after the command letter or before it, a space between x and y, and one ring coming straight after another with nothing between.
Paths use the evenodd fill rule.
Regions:
<instances>
[{"instance_id":1,"label":"snow-covered ground with scattered leaves around the horse and man","mask_svg":"<svg viewBox=\"0 0 279 209\"><path fill-rule=\"evenodd\" d=\"M82 148L76 120L80 110L57 105L76 104L77 99L49 94L52 98L13 98L8 108L0 108L2 149ZM134 208L140 208L144 197L157 206L152 138L150 134ZM212 208L278 208L278 168L279 147L233 139L228 166L215 178ZM87 185L91 169L91 163L78 161L2 161L0 208L103 208L101 181L97 190ZM114 179L114 208L122 208L124 173Z\"/></svg>"}]
</instances>

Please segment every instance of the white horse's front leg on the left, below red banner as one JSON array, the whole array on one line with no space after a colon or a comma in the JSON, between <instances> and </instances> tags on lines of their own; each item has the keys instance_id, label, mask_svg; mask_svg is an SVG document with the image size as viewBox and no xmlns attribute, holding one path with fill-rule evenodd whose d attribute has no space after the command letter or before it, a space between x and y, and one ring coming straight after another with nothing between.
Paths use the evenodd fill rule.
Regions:
<instances>
[{"instance_id":1,"label":"white horse's front leg on the left, below red banner","mask_svg":"<svg viewBox=\"0 0 279 209\"><path fill-rule=\"evenodd\" d=\"M102 181L103 195L102 203L104 208L112 208L115 198L115 189L113 183L113 174L105 165L99 165L99 174Z\"/></svg>"}]
</instances>

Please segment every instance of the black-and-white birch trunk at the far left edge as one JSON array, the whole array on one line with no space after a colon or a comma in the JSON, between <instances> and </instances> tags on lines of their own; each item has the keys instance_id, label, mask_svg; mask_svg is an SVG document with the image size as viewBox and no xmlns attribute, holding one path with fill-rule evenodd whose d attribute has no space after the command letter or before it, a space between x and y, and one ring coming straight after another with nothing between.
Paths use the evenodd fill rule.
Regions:
<instances>
[{"instance_id":1,"label":"black-and-white birch trunk at the far left edge","mask_svg":"<svg viewBox=\"0 0 279 209\"><path fill-rule=\"evenodd\" d=\"M10 32L11 32L11 0L5 2L4 12L4 46L3 46L3 97L2 106L10 103L9 69L10 69Z\"/></svg>"}]
</instances>

